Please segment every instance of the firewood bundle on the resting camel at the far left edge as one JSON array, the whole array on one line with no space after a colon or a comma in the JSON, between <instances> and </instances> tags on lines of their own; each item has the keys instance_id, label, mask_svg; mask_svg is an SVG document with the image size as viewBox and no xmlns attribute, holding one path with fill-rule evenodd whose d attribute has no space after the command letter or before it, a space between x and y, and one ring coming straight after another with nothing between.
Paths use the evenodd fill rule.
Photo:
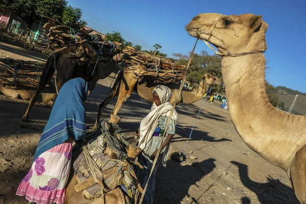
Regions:
<instances>
[{"instance_id":1,"label":"firewood bundle on the resting camel at the far left edge","mask_svg":"<svg viewBox=\"0 0 306 204\"><path fill-rule=\"evenodd\" d=\"M36 88L44 65L44 62L0 58L0 83Z\"/></svg>"}]
</instances>

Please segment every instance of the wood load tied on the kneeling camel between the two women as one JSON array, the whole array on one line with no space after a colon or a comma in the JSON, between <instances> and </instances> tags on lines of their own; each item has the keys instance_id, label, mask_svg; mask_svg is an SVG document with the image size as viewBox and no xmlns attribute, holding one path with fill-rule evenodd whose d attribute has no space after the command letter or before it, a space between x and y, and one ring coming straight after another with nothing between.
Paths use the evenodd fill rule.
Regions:
<instances>
[{"instance_id":1,"label":"wood load tied on the kneeling camel between the two women","mask_svg":"<svg viewBox=\"0 0 306 204\"><path fill-rule=\"evenodd\" d=\"M137 203L138 195L143 189L133 164L143 168L137 162L141 148L127 142L122 129L109 120L103 120L100 127L98 132L88 135L88 144L82 147L81 154L73 163L78 181L74 189L82 192L86 199L101 196L101 191L105 194L118 189L128 195L126 199ZM101 176L103 185L95 182L94 177L98 177L97 175Z\"/></svg>"}]
</instances>

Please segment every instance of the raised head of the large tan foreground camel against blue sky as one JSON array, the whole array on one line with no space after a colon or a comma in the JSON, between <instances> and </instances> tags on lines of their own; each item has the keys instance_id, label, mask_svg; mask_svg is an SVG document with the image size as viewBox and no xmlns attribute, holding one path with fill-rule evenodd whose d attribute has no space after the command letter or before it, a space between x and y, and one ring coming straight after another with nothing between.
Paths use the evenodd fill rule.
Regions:
<instances>
[{"instance_id":1,"label":"raised head of the large tan foreground camel against blue sky","mask_svg":"<svg viewBox=\"0 0 306 204\"><path fill-rule=\"evenodd\" d=\"M223 55L266 50L268 24L254 14L202 13L188 23L189 35L208 40Z\"/></svg>"}]
</instances>

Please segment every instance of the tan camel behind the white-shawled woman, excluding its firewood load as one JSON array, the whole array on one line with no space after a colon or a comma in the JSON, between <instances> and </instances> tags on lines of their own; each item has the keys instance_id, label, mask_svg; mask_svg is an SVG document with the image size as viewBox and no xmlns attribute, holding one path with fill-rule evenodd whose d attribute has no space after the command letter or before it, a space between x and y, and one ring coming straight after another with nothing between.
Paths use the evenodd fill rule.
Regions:
<instances>
[{"instance_id":1,"label":"tan camel behind the white-shawled woman, excluding its firewood load","mask_svg":"<svg viewBox=\"0 0 306 204\"><path fill-rule=\"evenodd\" d=\"M133 69L130 67L125 68L122 76L121 74L118 75L112 92L105 98L103 103L99 105L98 115L93 130L97 129L100 115L103 110L117 95L118 99L112 112L113 115L117 115L122 107L122 104L131 96L133 91L138 93L138 95L143 99L153 103L152 91L158 84L146 84L141 80L135 79L136 75L133 73ZM200 82L199 87L194 91L183 91L182 93L179 93L180 85L169 83L167 86L172 90L173 93L172 97L170 98L170 103L173 105L177 95L180 94L177 103L193 104L203 96L203 94L209 89L211 85L221 85L221 83L222 81L220 78L214 77L213 75L207 73L203 75L203 80Z\"/></svg>"}]
</instances>

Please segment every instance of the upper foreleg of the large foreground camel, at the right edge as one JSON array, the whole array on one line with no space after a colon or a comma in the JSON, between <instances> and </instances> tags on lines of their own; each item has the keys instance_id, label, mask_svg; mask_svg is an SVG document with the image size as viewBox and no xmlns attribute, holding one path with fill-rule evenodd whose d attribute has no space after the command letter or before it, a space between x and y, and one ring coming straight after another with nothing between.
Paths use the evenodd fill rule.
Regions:
<instances>
[{"instance_id":1,"label":"upper foreleg of the large foreground camel, at the right edge","mask_svg":"<svg viewBox=\"0 0 306 204\"><path fill-rule=\"evenodd\" d=\"M290 166L290 177L297 199L306 204L306 145L296 152Z\"/></svg>"}]
</instances>

